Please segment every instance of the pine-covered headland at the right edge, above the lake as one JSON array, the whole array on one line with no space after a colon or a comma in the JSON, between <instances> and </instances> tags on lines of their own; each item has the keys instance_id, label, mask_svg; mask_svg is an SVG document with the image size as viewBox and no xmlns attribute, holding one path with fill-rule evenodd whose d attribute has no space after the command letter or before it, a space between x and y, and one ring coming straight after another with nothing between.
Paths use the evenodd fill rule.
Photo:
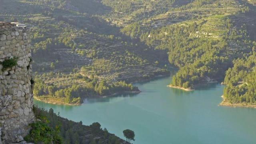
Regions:
<instances>
[{"instance_id":1,"label":"pine-covered headland at the right edge, above the lake","mask_svg":"<svg viewBox=\"0 0 256 144\"><path fill-rule=\"evenodd\" d=\"M256 53L234 60L226 71L224 96L231 104L256 104Z\"/></svg>"}]
</instances>

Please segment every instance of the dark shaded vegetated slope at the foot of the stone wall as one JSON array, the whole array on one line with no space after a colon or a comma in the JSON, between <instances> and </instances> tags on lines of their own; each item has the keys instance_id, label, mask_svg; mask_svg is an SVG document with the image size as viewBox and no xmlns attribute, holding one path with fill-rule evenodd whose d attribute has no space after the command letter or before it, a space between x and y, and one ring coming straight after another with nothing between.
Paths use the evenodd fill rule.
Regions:
<instances>
[{"instance_id":1,"label":"dark shaded vegetated slope at the foot of the stone wall","mask_svg":"<svg viewBox=\"0 0 256 144\"><path fill-rule=\"evenodd\" d=\"M73 122L55 114L34 107L37 121L31 124L32 129L25 137L27 142L35 144L124 144L124 140L110 134L106 128L102 130L98 122L90 126L82 122ZM129 144L127 142L127 144Z\"/></svg>"}]
</instances>

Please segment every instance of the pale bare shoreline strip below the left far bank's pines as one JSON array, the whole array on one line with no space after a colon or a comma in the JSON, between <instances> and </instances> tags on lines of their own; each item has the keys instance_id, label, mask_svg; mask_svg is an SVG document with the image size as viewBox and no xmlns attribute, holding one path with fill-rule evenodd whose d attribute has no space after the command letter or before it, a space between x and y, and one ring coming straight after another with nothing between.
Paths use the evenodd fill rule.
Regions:
<instances>
[{"instance_id":1,"label":"pale bare shoreline strip below the left far bank's pines","mask_svg":"<svg viewBox=\"0 0 256 144\"><path fill-rule=\"evenodd\" d=\"M108 95L108 96L92 96L92 97L88 97L88 98L93 98L93 97L94 98L106 98L106 97L111 97L111 96L117 96L117 95L120 95L120 94L139 94L140 92L141 92L140 90L138 90L138 91L124 91L124 92L116 92L116 93ZM84 102L82 102L80 104L67 104L65 102L58 101L58 100L61 100L61 99L58 99L58 100L53 100L53 99L48 99L48 98L40 99L36 96L33 96L33 98L38 100L38 101L45 102L45 103L48 103L48 104L66 105L66 106L80 106L84 103Z\"/></svg>"}]
</instances>

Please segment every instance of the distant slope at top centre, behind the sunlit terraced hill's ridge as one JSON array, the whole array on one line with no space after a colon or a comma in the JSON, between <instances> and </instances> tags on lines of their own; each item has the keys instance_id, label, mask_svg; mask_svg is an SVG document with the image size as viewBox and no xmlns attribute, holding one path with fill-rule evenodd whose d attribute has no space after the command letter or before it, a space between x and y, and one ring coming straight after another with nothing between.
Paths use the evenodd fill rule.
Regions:
<instances>
[{"instance_id":1,"label":"distant slope at top centre, behind the sunlit terraced hill's ridge","mask_svg":"<svg viewBox=\"0 0 256 144\"><path fill-rule=\"evenodd\" d=\"M103 4L112 8L112 12L104 18L119 26L150 18L189 2L190 0L102 0Z\"/></svg>"}]
</instances>

